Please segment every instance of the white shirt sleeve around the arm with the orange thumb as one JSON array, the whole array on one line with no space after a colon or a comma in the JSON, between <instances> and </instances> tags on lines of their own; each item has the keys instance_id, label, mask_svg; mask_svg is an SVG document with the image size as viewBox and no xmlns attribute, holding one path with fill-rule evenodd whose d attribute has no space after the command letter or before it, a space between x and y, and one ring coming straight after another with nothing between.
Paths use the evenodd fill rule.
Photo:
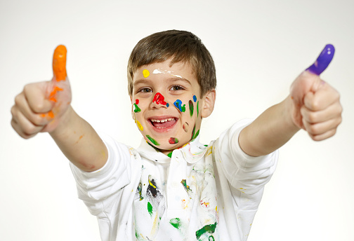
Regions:
<instances>
[{"instance_id":1,"label":"white shirt sleeve around the arm with the orange thumb","mask_svg":"<svg viewBox=\"0 0 354 241\"><path fill-rule=\"evenodd\" d=\"M100 170L84 172L70 163L79 198L91 214L98 217L103 212L110 212L110 207L114 206L112 202L119 199L119 192L130 183L131 159L134 157L129 146L119 144L108 136L101 136L101 139L107 146L108 158Z\"/></svg>"}]
</instances>

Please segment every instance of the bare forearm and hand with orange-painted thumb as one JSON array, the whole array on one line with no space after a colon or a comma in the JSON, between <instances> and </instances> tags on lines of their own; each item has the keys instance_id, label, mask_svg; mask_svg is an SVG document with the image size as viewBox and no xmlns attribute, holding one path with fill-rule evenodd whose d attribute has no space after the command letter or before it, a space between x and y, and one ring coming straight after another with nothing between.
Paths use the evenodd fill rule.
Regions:
<instances>
[{"instance_id":1,"label":"bare forearm and hand with orange-painted thumb","mask_svg":"<svg viewBox=\"0 0 354 241\"><path fill-rule=\"evenodd\" d=\"M11 125L25 139L38 132L48 132L74 165L93 172L107 162L107 148L91 125L70 105L71 90L65 62L66 49L58 46L53 55L52 81L25 85L15 97Z\"/></svg>"}]
</instances>

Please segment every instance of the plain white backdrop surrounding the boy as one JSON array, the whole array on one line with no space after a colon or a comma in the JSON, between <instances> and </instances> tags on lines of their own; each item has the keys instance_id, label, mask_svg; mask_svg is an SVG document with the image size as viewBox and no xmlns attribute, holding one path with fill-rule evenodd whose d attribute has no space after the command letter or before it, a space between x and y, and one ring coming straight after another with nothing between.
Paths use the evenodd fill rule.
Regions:
<instances>
[{"instance_id":1,"label":"plain white backdrop surrounding the boy","mask_svg":"<svg viewBox=\"0 0 354 241\"><path fill-rule=\"evenodd\" d=\"M291 81L334 44L322 78L341 92L343 123L332 139L313 142L301 131L280 149L249 241L354 240L353 11L352 0L1 0L0 240L99 240L53 140L12 130L15 95L51 79L53 50L65 44L74 109L137 147L126 64L140 39L166 29L197 34L216 62L216 109L203 121L204 143L284 99Z\"/></svg>"}]
</instances>

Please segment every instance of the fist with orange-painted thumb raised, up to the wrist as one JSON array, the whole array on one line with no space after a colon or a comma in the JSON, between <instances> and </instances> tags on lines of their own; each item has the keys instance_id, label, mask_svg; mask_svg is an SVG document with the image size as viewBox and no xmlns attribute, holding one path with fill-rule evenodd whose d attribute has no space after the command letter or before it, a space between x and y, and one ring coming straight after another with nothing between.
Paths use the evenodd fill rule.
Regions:
<instances>
[{"instance_id":1,"label":"fist with orange-painted thumb raised, up to the wrist","mask_svg":"<svg viewBox=\"0 0 354 241\"><path fill-rule=\"evenodd\" d=\"M66 74L65 46L55 48L51 81L30 83L15 97L11 108L13 129L28 139L38 132L52 132L70 109L72 93Z\"/></svg>"}]
</instances>

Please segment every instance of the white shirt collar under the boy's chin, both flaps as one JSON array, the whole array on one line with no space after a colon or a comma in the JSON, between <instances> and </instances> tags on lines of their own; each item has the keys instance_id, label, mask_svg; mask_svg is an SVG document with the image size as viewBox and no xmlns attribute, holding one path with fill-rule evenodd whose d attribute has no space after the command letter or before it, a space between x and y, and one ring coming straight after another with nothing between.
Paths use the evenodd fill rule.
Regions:
<instances>
[{"instance_id":1,"label":"white shirt collar under the boy's chin, both flaps","mask_svg":"<svg viewBox=\"0 0 354 241\"><path fill-rule=\"evenodd\" d=\"M173 153L180 151L185 158L187 163L197 163L206 151L206 145L199 142L199 135L192 142L188 142L185 146L180 149L173 150ZM157 151L154 147L150 146L145 139L141 140L140 146L138 148L140 156L143 158L156 161L157 163L170 163L171 158L166 156L164 153Z\"/></svg>"}]
</instances>

